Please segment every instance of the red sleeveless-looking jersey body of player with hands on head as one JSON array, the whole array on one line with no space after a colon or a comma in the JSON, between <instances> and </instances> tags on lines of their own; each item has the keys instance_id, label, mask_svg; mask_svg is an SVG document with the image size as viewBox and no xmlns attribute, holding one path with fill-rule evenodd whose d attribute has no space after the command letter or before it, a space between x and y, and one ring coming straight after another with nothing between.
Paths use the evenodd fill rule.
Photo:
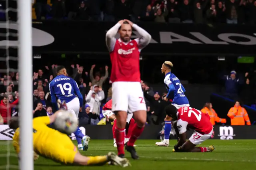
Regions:
<instances>
[{"instance_id":1,"label":"red sleeveless-looking jersey body of player with hands on head","mask_svg":"<svg viewBox=\"0 0 256 170\"><path fill-rule=\"evenodd\" d=\"M110 81L140 82L140 49L137 41L124 43L120 39L116 40L114 50L110 52Z\"/></svg>"}]
</instances>

